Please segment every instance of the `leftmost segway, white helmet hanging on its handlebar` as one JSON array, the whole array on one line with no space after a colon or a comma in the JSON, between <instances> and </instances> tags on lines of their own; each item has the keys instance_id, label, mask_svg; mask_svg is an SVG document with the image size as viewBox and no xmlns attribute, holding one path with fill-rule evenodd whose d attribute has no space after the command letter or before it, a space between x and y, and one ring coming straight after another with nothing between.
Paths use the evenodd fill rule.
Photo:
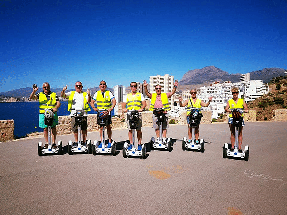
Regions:
<instances>
[{"instance_id":1,"label":"leftmost segway, white helmet hanging on its handlebar","mask_svg":"<svg viewBox=\"0 0 287 215\"><path fill-rule=\"evenodd\" d=\"M48 148L43 148L43 143L39 142L38 144L38 155L43 156L44 154L52 154L52 153L63 153L63 143L59 140L57 148L52 148L52 126L54 122L54 113L51 109L45 109L45 125L48 127Z\"/></svg>"}]
</instances>

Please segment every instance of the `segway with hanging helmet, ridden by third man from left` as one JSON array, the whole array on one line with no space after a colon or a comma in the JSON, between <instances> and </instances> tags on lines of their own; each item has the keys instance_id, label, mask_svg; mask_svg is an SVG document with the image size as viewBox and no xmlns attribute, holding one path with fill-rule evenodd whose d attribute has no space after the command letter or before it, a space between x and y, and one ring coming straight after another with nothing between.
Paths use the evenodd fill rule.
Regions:
<instances>
[{"instance_id":1,"label":"segway with hanging helmet, ridden by third man from left","mask_svg":"<svg viewBox=\"0 0 287 215\"><path fill-rule=\"evenodd\" d=\"M103 132L102 132L102 140L100 142L95 140L92 145L93 155L97 155L100 153L108 153L108 154L112 154L113 156L115 156L117 152L117 146L114 140L111 142L110 147L109 145L105 145L105 132L106 132L106 126L108 123L108 114L105 115L106 112L107 111L104 109L98 110L97 112L97 123L98 125L100 125L100 127L103 127Z\"/></svg>"}]
</instances>

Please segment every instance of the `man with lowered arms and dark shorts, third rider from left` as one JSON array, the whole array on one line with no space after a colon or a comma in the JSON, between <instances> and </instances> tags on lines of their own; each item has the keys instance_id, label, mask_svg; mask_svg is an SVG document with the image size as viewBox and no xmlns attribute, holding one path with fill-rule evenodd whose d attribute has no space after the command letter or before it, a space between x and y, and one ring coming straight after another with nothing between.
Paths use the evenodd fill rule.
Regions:
<instances>
[{"instance_id":1,"label":"man with lowered arms and dark shorts, third rider from left","mask_svg":"<svg viewBox=\"0 0 287 215\"><path fill-rule=\"evenodd\" d=\"M107 111L104 115L108 115L108 122L107 122L106 128L107 128L107 133L108 133L108 138L109 138L109 144L107 147L110 148L111 142L112 142L112 129L111 129L112 117L111 117L110 112L115 108L115 105L117 104L117 102L112 92L106 91L107 84L105 81L100 81L99 87L100 87L100 90L94 94L93 99L91 101L91 106L94 111L98 111L101 109L104 109ZM96 102L96 105L95 105L95 102ZM103 135L103 127L100 127L101 139L103 138L102 135ZM100 143L100 145L98 146L99 148L102 147L101 144L102 143Z\"/></svg>"}]
</instances>

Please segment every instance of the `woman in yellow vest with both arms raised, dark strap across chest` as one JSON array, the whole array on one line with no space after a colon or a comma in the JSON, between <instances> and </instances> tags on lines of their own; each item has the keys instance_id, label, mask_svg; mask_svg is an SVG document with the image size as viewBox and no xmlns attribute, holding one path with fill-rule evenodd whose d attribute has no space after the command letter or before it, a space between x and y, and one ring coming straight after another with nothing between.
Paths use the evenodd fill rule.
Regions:
<instances>
[{"instance_id":1,"label":"woman in yellow vest with both arms raised, dark strap across chest","mask_svg":"<svg viewBox=\"0 0 287 215\"><path fill-rule=\"evenodd\" d=\"M192 138L192 132L191 132L191 128L189 126L189 115L190 115L190 112L191 112L191 107L194 107L194 108L201 108L201 106L203 107L207 107L209 106L210 102L212 101L212 96L210 96L208 98L208 102L205 103L203 102L201 99L198 99L196 97L196 94L197 94L197 91L196 89L191 89L190 90L190 94L191 94L191 98L189 98L188 100L186 100L184 103L182 103L182 97L181 95L178 96L178 100L179 100L179 106L180 107L184 107L187 105L187 112L186 112L186 121L187 121L187 126L188 126L188 143L191 142L191 138ZM198 123L198 126L195 128L195 131L194 131L194 135L195 135L195 143L199 144L199 123Z\"/></svg>"}]
</instances>

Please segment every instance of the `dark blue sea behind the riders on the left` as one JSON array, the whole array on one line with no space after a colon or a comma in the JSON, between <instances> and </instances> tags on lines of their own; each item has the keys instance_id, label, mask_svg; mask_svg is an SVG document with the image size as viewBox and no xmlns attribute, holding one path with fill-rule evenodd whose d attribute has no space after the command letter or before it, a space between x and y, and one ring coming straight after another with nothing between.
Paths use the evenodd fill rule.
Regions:
<instances>
[{"instance_id":1,"label":"dark blue sea behind the riders on the left","mask_svg":"<svg viewBox=\"0 0 287 215\"><path fill-rule=\"evenodd\" d=\"M68 101L60 101L58 116L69 115ZM96 114L91 108L88 114ZM114 115L114 111L111 112ZM27 136L33 132L43 132L39 127L39 102L0 102L0 120L14 120L15 138Z\"/></svg>"}]
</instances>

